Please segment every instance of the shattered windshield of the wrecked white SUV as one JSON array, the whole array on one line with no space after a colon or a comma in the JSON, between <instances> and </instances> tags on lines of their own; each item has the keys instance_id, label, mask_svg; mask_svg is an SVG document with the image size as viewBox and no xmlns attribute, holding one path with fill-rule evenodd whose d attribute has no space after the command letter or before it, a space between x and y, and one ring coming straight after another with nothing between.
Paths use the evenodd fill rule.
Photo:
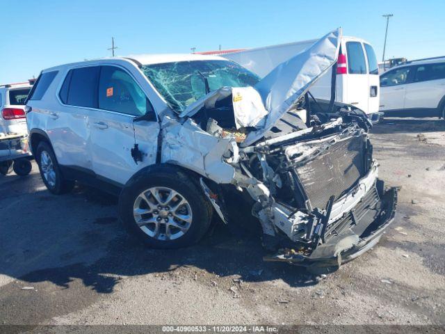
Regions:
<instances>
[{"instance_id":1,"label":"shattered windshield of the wrecked white SUV","mask_svg":"<svg viewBox=\"0 0 445 334\"><path fill-rule=\"evenodd\" d=\"M154 88L178 112L218 88L254 86L259 77L231 61L177 61L143 65Z\"/></svg>"}]
</instances>

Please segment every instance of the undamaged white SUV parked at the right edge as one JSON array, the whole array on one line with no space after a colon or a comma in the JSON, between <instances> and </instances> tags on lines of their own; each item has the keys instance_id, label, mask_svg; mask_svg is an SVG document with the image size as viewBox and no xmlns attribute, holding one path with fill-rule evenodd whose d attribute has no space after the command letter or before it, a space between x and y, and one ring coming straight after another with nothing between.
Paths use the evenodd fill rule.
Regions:
<instances>
[{"instance_id":1,"label":"undamaged white SUV parked at the right edge","mask_svg":"<svg viewBox=\"0 0 445 334\"><path fill-rule=\"evenodd\" d=\"M445 57L407 62L381 74L380 111L445 118Z\"/></svg>"}]
</instances>

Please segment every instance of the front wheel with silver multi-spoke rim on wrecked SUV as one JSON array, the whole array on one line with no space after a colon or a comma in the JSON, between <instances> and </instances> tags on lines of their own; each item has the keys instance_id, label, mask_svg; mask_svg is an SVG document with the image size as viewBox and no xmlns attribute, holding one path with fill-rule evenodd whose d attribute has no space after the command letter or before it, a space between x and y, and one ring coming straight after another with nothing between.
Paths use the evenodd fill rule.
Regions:
<instances>
[{"instance_id":1,"label":"front wheel with silver multi-spoke rim on wrecked SUV","mask_svg":"<svg viewBox=\"0 0 445 334\"><path fill-rule=\"evenodd\" d=\"M119 212L127 230L152 248L195 244L211 223L204 193L170 166L133 178L120 194Z\"/></svg>"}]
</instances>

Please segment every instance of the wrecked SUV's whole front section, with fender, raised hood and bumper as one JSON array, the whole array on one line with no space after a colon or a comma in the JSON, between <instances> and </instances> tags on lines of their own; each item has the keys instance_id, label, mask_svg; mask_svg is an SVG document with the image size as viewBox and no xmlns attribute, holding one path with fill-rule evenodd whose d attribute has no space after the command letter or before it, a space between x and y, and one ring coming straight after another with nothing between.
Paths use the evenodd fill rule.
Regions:
<instances>
[{"instance_id":1,"label":"wrecked SUV's whole front section, with fender, raised hood and bumper","mask_svg":"<svg viewBox=\"0 0 445 334\"><path fill-rule=\"evenodd\" d=\"M339 265L376 244L394 218L397 193L378 180L371 120L334 102L334 70L331 100L309 91L336 66L339 35L326 35L254 87L213 90L179 121L163 118L161 162L202 175L225 223L243 223L231 218L227 201L247 194L271 252L266 260Z\"/></svg>"}]
</instances>

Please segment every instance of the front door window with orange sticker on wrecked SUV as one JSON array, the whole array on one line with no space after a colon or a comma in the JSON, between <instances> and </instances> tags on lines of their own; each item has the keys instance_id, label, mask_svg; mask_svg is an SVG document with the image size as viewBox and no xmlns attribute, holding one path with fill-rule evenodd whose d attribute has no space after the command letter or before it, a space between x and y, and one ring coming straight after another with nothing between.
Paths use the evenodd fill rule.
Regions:
<instances>
[{"instance_id":1,"label":"front door window with orange sticker on wrecked SUV","mask_svg":"<svg viewBox=\"0 0 445 334\"><path fill-rule=\"evenodd\" d=\"M143 116L153 112L151 104L136 81L115 66L102 66L99 79L99 109Z\"/></svg>"}]
</instances>

